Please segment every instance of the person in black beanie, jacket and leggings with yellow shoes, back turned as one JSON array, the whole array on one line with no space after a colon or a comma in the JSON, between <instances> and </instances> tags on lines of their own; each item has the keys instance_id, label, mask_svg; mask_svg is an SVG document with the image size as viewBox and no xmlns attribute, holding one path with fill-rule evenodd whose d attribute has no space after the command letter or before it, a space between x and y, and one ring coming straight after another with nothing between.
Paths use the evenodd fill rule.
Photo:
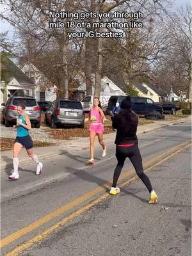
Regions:
<instances>
[{"instance_id":1,"label":"person in black beanie, jacket and leggings with yellow shoes, back turned","mask_svg":"<svg viewBox=\"0 0 192 256\"><path fill-rule=\"evenodd\" d=\"M129 157L137 175L143 181L150 193L148 203L156 204L158 200L157 195L152 189L152 185L147 175L143 172L141 154L138 148L138 138L136 136L138 115L131 110L130 97L126 97L126 99L122 101L121 109L120 113L113 118L113 129L117 130L115 144L118 163L113 175L113 185L109 193L111 195L120 193L120 189L116 187L116 183L124 166L125 159Z\"/></svg>"}]
</instances>

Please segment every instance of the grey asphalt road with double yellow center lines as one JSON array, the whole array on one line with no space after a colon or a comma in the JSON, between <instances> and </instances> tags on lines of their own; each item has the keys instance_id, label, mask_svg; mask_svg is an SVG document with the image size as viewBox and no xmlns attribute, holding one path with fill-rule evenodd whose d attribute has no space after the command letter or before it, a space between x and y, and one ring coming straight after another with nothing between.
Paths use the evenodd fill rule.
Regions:
<instances>
[{"instance_id":1,"label":"grey asphalt road with double yellow center lines","mask_svg":"<svg viewBox=\"0 0 192 256\"><path fill-rule=\"evenodd\" d=\"M147 204L140 180L108 196L116 165L113 143L104 159L97 148L94 166L86 165L83 145L84 150L44 161L42 177L31 172L34 164L22 167L15 182L7 180L6 170L1 174L2 255L191 255L191 150L181 145L190 140L189 122L140 136L157 205ZM122 182L134 176L131 168L127 160Z\"/></svg>"}]
</instances>

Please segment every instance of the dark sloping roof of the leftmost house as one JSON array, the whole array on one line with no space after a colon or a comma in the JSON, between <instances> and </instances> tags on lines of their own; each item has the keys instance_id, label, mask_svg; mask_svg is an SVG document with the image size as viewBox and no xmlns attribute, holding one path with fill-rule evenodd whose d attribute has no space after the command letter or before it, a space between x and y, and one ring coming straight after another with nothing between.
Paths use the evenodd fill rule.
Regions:
<instances>
[{"instance_id":1,"label":"dark sloping roof of the leftmost house","mask_svg":"<svg viewBox=\"0 0 192 256\"><path fill-rule=\"evenodd\" d=\"M3 63L1 62L1 70L7 70L10 72L10 80L15 78L20 84L29 84L35 86L35 83L33 83L33 81L7 57L4 57Z\"/></svg>"}]
</instances>

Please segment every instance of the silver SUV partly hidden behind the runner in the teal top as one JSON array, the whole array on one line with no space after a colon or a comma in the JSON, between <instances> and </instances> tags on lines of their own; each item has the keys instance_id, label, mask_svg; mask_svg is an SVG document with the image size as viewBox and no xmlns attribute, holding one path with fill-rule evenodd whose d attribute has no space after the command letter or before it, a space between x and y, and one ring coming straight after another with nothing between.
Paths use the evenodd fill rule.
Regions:
<instances>
[{"instance_id":1,"label":"silver SUV partly hidden behind the runner in the teal top","mask_svg":"<svg viewBox=\"0 0 192 256\"><path fill-rule=\"evenodd\" d=\"M16 124L17 106L19 103L26 105L25 113L29 116L31 124L35 124L36 128L40 128L41 109L33 97L10 97L6 104L2 103L3 108L3 124L8 127Z\"/></svg>"}]
</instances>

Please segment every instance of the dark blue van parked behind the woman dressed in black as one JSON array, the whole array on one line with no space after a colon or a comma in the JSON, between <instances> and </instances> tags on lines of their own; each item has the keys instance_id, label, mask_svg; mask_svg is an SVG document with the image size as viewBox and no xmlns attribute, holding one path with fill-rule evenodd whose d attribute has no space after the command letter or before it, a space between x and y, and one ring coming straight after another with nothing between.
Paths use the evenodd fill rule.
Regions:
<instances>
[{"instance_id":1,"label":"dark blue van parked behind the woman dressed in black","mask_svg":"<svg viewBox=\"0 0 192 256\"><path fill-rule=\"evenodd\" d=\"M116 102L119 104L127 96L111 96L108 102L108 113L112 115L112 109L115 107ZM154 101L144 97L131 97L131 109L138 115L148 116L148 114L156 113L159 118L163 118L161 106L156 106Z\"/></svg>"}]
</instances>

